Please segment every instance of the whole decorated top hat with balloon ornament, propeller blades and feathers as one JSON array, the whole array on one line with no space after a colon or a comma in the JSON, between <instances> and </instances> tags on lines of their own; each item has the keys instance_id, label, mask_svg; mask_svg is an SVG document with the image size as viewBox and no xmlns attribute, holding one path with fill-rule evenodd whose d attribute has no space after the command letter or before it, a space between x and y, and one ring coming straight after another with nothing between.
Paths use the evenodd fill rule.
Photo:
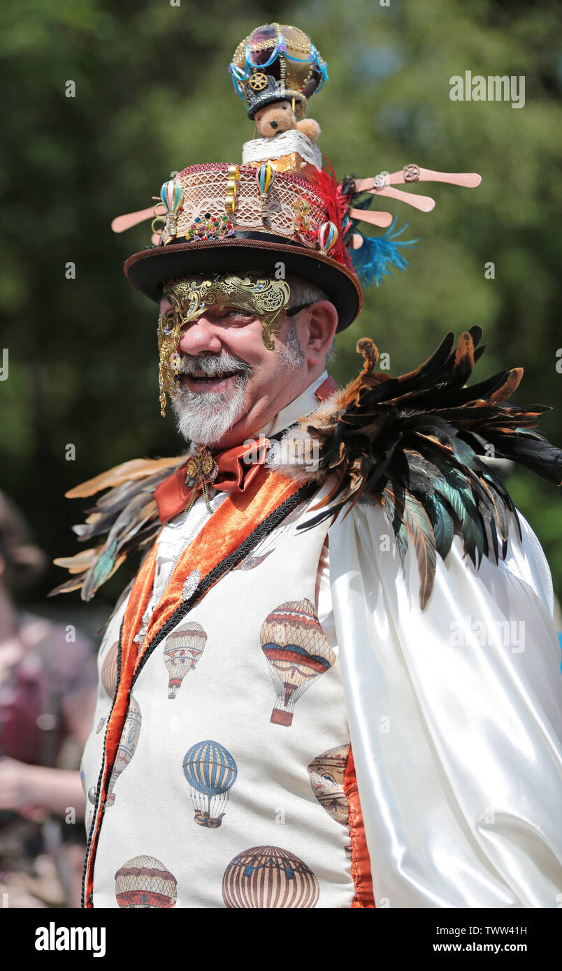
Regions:
<instances>
[{"instance_id":1,"label":"whole decorated top hat with balloon ornament, propeller blades and feathers","mask_svg":"<svg viewBox=\"0 0 562 971\"><path fill-rule=\"evenodd\" d=\"M309 38L296 27L276 23L242 41L229 70L251 117L263 104L288 98L295 98L303 112L307 98L328 78L326 64ZM255 79L260 73L265 83L258 89ZM288 134L282 133L284 138ZM305 134L296 134L306 140ZM160 195L153 196L156 207L114 219L112 228L122 232L154 216L153 246L134 253L124 264L130 283L158 302L163 281L174 277L248 270L278 276L282 263L285 275L308 280L326 292L337 310L340 331L361 310L362 286L394 276L393 268L404 270L402 250L415 242L399 239L403 230L395 231L396 218L390 213L369 208L374 196L430 212L435 202L429 196L394 186L480 183L475 173L435 172L415 164L338 183L328 159L318 169L295 163L300 158L295 152L288 164L288 156L279 157L279 140L276 135L246 143L262 148L263 161L191 165L162 185ZM386 232L365 236L360 222Z\"/></svg>"}]
</instances>

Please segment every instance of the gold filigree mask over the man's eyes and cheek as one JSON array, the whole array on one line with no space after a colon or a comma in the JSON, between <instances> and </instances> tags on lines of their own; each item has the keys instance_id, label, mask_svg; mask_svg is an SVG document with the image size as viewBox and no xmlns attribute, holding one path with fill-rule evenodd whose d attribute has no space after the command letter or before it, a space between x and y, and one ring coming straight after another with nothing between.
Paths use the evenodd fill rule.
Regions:
<instances>
[{"instance_id":1,"label":"gold filigree mask over the man's eyes and cheek","mask_svg":"<svg viewBox=\"0 0 562 971\"><path fill-rule=\"evenodd\" d=\"M285 280L271 280L250 273L235 277L231 273L213 273L205 280L177 277L167 280L163 295L172 305L172 313L158 318L160 415L165 415L166 394L175 397L181 357L177 352L186 323L201 317L209 307L250 311L262 321L263 344L273 351L271 335L277 337L281 322L279 315L289 304L291 291Z\"/></svg>"}]
</instances>

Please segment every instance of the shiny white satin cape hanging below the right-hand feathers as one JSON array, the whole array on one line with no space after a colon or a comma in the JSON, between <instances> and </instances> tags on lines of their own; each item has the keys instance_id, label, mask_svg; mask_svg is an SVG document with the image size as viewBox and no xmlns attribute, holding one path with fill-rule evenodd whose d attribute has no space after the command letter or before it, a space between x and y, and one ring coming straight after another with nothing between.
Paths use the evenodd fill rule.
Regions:
<instances>
[{"instance_id":1,"label":"shiny white satin cape hanging below the right-hand feathers","mask_svg":"<svg viewBox=\"0 0 562 971\"><path fill-rule=\"evenodd\" d=\"M560 650L544 553L521 525L508 559L477 572L455 538L423 612L415 556L404 580L380 507L331 527L377 907L562 903Z\"/></svg>"}]
</instances>

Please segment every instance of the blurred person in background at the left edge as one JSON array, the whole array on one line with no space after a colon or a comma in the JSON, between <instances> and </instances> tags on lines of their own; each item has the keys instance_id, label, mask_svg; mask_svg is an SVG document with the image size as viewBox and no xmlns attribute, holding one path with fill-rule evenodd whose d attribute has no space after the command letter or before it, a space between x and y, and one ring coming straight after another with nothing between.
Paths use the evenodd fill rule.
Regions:
<instances>
[{"instance_id":1,"label":"blurred person in background at the left edge","mask_svg":"<svg viewBox=\"0 0 562 971\"><path fill-rule=\"evenodd\" d=\"M16 606L13 591L43 565L0 492L0 893L12 908L80 905L85 796L76 766L91 729L95 664L73 627Z\"/></svg>"}]
</instances>

